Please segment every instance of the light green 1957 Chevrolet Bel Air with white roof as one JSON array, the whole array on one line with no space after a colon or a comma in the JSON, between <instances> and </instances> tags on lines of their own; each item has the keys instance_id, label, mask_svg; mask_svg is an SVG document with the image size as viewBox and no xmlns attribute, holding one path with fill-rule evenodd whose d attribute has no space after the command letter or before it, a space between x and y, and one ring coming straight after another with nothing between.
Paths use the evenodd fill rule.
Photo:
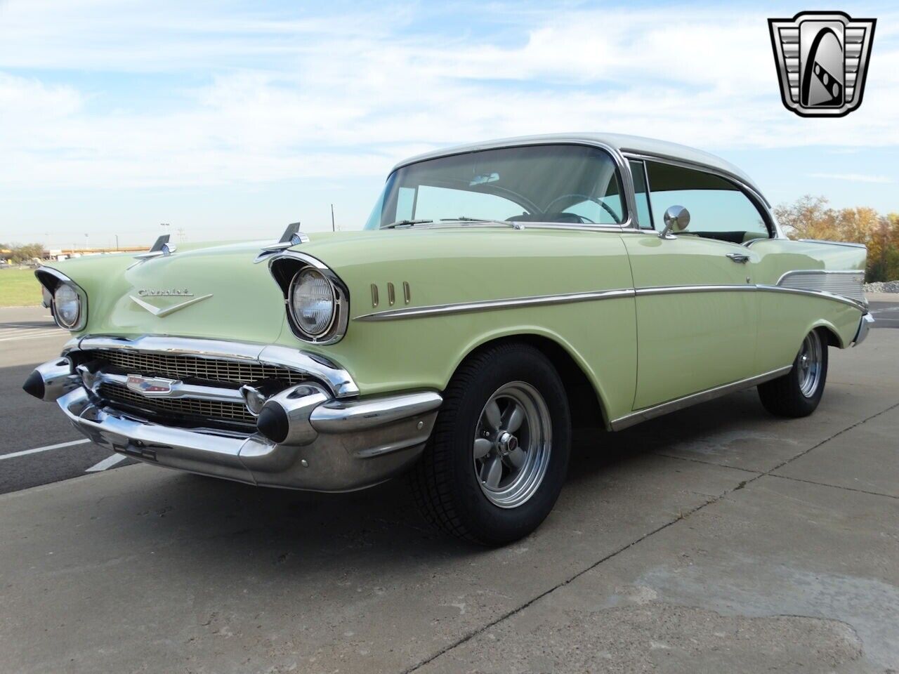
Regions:
<instances>
[{"instance_id":1,"label":"light green 1957 Chevrolet Bel Air with white roof","mask_svg":"<svg viewBox=\"0 0 899 674\"><path fill-rule=\"evenodd\" d=\"M868 333L866 254L789 240L689 147L455 147L398 164L361 232L40 268L74 336L24 388L158 466L324 492L407 473L433 523L500 545L552 509L573 420L749 386L813 412L828 347Z\"/></svg>"}]
</instances>

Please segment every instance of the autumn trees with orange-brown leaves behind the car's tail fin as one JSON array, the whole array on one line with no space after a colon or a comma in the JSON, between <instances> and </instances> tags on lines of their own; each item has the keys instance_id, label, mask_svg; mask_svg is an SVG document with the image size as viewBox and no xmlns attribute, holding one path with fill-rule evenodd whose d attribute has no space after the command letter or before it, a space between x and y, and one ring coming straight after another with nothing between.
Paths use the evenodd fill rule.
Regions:
<instances>
[{"instance_id":1,"label":"autumn trees with orange-brown leaves behind the car's tail fin","mask_svg":"<svg viewBox=\"0 0 899 674\"><path fill-rule=\"evenodd\" d=\"M874 208L832 208L824 197L806 195L774 208L791 239L848 241L868 246L865 280L899 280L899 214L880 215Z\"/></svg>"}]
</instances>

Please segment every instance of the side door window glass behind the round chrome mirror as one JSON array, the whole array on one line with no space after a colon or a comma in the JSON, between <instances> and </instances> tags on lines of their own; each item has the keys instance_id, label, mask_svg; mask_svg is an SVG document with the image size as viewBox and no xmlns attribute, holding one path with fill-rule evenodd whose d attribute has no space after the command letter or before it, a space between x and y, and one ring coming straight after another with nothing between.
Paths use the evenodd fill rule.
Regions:
<instances>
[{"instance_id":1,"label":"side door window glass behind the round chrome mirror","mask_svg":"<svg viewBox=\"0 0 899 674\"><path fill-rule=\"evenodd\" d=\"M690 211L687 235L743 244L769 238L761 211L733 182L712 173L647 162L654 226L661 230L671 206Z\"/></svg>"}]
</instances>

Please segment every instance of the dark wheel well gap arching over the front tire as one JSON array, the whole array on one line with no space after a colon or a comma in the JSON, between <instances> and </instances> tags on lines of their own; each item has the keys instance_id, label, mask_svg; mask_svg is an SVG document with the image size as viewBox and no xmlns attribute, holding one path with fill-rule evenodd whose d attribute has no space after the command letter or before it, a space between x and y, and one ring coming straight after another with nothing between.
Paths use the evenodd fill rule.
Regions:
<instances>
[{"instance_id":1,"label":"dark wheel well gap arching over the front tire","mask_svg":"<svg viewBox=\"0 0 899 674\"><path fill-rule=\"evenodd\" d=\"M590 380L583 373L583 369L568 351L560 346L558 342L548 337L543 337L539 334L517 334L486 341L469 353L466 360L477 351L495 346L501 342L512 341L530 344L530 346L543 353L556 368L556 372L558 372L559 377L562 379L562 384L565 386L565 394L568 396L568 408L571 411L571 421L574 428L607 427L608 419L606 418L605 410L602 408L596 389L593 388Z\"/></svg>"}]
</instances>

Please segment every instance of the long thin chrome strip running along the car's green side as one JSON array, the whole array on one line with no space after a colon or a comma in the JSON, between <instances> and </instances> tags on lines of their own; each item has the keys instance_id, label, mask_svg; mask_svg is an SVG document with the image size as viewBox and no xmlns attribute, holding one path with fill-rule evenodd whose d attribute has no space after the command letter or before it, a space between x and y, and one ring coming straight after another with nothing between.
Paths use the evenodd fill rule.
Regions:
<instances>
[{"instance_id":1,"label":"long thin chrome strip running along the car's green side","mask_svg":"<svg viewBox=\"0 0 899 674\"><path fill-rule=\"evenodd\" d=\"M799 288L784 288L782 286L770 286L766 284L709 284L709 285L684 285L684 286L652 286L648 288L615 288L611 290L588 290L585 292L560 293L557 295L536 295L529 297L508 297L503 299L487 299L476 302L458 302L443 305L430 306L406 306L399 309L387 309L370 314L358 315L353 321L362 323L377 323L380 321L396 321L407 318L421 318L438 315L469 314L480 311L495 311L499 309L515 309L522 306L550 306L574 304L575 302L594 302L603 299L619 299L621 297L651 297L654 295L679 295L694 293L714 292L781 292L810 297L832 299L842 304L853 306L862 313L868 312L868 307L857 302L851 297L834 295L823 290L803 290Z\"/></svg>"}]
</instances>

